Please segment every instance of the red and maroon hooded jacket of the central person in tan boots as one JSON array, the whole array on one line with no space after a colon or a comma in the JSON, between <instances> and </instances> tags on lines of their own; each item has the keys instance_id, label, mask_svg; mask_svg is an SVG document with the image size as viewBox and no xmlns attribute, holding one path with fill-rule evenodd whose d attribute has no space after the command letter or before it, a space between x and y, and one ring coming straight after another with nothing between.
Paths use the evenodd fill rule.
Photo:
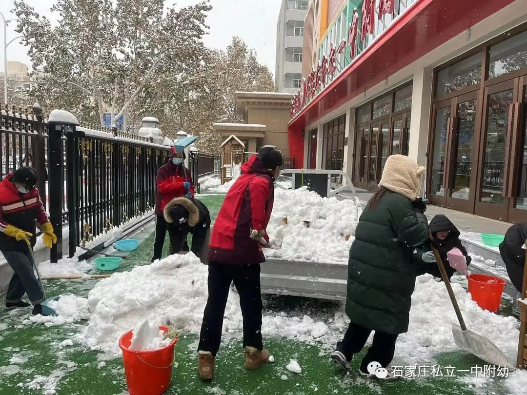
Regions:
<instances>
[{"instance_id":1,"label":"red and maroon hooded jacket of the central person in tan boots","mask_svg":"<svg viewBox=\"0 0 527 395\"><path fill-rule=\"evenodd\" d=\"M251 229L266 230L274 199L274 176L257 155L241 166L242 174L230 187L214 222L209 261L229 264L265 262Z\"/></svg>"}]
</instances>

